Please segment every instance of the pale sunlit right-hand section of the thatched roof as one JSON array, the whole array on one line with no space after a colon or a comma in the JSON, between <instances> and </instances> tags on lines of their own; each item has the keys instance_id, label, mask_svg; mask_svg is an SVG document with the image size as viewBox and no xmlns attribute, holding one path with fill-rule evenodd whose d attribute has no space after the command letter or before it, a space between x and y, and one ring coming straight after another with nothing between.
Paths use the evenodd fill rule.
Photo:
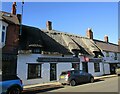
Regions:
<instances>
[{"instance_id":1,"label":"pale sunlit right-hand section of the thatched roof","mask_svg":"<svg viewBox=\"0 0 120 94\"><path fill-rule=\"evenodd\" d=\"M95 55L95 53L98 53L103 56L101 50L95 45L93 40L76 36L73 34L68 34L56 30L41 30L44 33L46 33L49 37L54 39L59 44L63 45L66 49L68 49L71 53L76 50L79 51L82 54L86 55Z\"/></svg>"}]
</instances>

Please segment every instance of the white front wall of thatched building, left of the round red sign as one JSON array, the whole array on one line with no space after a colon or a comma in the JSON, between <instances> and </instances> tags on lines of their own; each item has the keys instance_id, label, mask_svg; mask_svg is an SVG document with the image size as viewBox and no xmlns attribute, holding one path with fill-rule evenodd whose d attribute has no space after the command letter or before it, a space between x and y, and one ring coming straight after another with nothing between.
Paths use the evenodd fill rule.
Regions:
<instances>
[{"instance_id":1,"label":"white front wall of thatched building, left of the round red sign","mask_svg":"<svg viewBox=\"0 0 120 94\"><path fill-rule=\"evenodd\" d=\"M61 57L61 56L47 56L40 54L19 54L17 60L17 74L22 79L24 85L29 84L42 84L50 82L50 63L56 62L37 62L38 57ZM69 57L69 56L66 56ZM42 64L41 77L37 79L27 79L28 75L28 63L40 63ZM70 70L72 68L72 62L59 62L56 63L57 68L57 80L59 80L59 75L64 70Z\"/></svg>"}]
</instances>

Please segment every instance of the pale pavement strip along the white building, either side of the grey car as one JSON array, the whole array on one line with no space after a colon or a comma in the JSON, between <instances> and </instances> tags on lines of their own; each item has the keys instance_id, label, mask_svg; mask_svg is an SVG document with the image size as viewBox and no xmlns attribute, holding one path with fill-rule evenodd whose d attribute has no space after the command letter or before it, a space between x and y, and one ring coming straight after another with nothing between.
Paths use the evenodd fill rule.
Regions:
<instances>
[{"instance_id":1,"label":"pale pavement strip along the white building, either side of the grey car","mask_svg":"<svg viewBox=\"0 0 120 94\"><path fill-rule=\"evenodd\" d=\"M94 77L94 80L100 80L105 78L117 77L117 75L104 75L99 77ZM24 86L24 91L33 91L33 90L45 90L45 89L52 89L52 88L60 88L63 87L59 82L49 82L44 84L35 84L35 85L26 85Z\"/></svg>"}]
</instances>

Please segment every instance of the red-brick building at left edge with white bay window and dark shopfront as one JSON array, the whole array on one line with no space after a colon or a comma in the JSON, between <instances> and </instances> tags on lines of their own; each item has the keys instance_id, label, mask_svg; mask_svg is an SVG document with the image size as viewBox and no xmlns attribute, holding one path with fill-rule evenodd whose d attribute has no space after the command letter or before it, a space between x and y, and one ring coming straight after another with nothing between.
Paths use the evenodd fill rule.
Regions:
<instances>
[{"instance_id":1,"label":"red-brick building at left edge with white bay window and dark shopfront","mask_svg":"<svg viewBox=\"0 0 120 94\"><path fill-rule=\"evenodd\" d=\"M0 12L0 48L2 49L2 73L16 74L19 19L14 13Z\"/></svg>"}]
</instances>

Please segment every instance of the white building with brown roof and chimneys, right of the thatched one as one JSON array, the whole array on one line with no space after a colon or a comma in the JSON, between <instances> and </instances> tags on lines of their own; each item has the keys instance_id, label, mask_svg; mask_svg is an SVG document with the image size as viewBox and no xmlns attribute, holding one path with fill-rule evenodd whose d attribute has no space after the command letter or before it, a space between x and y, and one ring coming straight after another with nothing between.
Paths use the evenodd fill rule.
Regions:
<instances>
[{"instance_id":1,"label":"white building with brown roof and chimneys, right of the thatched one","mask_svg":"<svg viewBox=\"0 0 120 94\"><path fill-rule=\"evenodd\" d=\"M102 50L104 74L115 74L115 69L120 65L120 50L118 44L110 43L108 36L105 35L104 41L93 38L91 29L87 31L87 37L92 39L94 43Z\"/></svg>"}]
</instances>

